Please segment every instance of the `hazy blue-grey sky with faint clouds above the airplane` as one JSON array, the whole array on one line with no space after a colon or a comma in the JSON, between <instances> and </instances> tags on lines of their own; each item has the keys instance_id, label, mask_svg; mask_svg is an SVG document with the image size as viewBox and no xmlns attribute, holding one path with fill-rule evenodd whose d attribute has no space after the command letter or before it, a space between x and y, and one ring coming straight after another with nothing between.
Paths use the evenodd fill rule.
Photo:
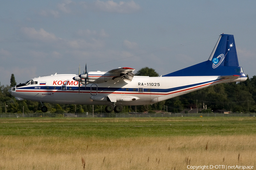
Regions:
<instances>
[{"instance_id":1,"label":"hazy blue-grey sky with faint clouds above the airplane","mask_svg":"<svg viewBox=\"0 0 256 170\"><path fill-rule=\"evenodd\" d=\"M256 1L1 1L0 83L52 74L155 69L166 75L206 61L234 35L239 65L256 75Z\"/></svg>"}]
</instances>

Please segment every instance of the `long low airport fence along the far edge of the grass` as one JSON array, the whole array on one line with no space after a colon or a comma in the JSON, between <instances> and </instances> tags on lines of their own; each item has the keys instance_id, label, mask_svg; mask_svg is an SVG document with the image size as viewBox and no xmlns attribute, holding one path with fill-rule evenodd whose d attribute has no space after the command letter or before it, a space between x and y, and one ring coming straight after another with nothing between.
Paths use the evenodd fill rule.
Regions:
<instances>
[{"instance_id":1,"label":"long low airport fence along the far edge of the grass","mask_svg":"<svg viewBox=\"0 0 256 170\"><path fill-rule=\"evenodd\" d=\"M113 118L146 118L146 117L232 117L232 116L252 116L255 117L256 113L172 113L172 114L129 114L129 113L24 113L24 114L14 114L14 113L0 113L0 118L19 118L19 117L79 117L79 118L99 118L99 117L113 117Z\"/></svg>"}]
</instances>

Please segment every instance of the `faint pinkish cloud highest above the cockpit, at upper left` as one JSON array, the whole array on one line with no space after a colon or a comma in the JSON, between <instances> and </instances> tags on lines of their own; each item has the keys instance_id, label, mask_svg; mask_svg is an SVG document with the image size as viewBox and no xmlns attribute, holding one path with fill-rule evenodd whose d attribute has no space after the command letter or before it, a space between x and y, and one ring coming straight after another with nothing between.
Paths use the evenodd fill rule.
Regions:
<instances>
[{"instance_id":1,"label":"faint pinkish cloud highest above the cockpit, at upper left","mask_svg":"<svg viewBox=\"0 0 256 170\"><path fill-rule=\"evenodd\" d=\"M41 41L53 41L57 39L53 33L48 33L43 28L40 28L40 30L36 31L36 29L31 27L22 27L21 31L30 39Z\"/></svg>"}]
</instances>

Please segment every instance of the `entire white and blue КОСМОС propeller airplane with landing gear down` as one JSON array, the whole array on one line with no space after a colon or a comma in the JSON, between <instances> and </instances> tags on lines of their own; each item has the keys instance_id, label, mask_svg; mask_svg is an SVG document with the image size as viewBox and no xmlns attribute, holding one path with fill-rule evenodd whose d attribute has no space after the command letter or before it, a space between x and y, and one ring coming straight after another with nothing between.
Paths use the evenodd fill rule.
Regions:
<instances>
[{"instance_id":1,"label":"entire white and blue \u041a\u041e\u0421\u041c\u041e\u0421 propeller airplane with landing gear down","mask_svg":"<svg viewBox=\"0 0 256 170\"><path fill-rule=\"evenodd\" d=\"M57 74L30 79L9 89L18 101L107 105L106 112L121 112L124 105L150 105L219 83L247 79L238 64L234 35L221 34L207 61L160 77L135 76L135 69Z\"/></svg>"}]
</instances>

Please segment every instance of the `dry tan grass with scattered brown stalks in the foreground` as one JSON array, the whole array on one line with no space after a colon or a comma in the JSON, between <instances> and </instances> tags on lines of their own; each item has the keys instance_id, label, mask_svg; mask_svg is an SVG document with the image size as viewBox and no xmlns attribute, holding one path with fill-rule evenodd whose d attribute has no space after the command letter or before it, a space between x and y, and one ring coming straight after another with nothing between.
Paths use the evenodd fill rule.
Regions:
<instances>
[{"instance_id":1,"label":"dry tan grass with scattered brown stalks in the foreground","mask_svg":"<svg viewBox=\"0 0 256 170\"><path fill-rule=\"evenodd\" d=\"M256 166L256 135L119 139L0 137L0 169L187 169ZM239 159L238 159L239 157Z\"/></svg>"}]
</instances>

